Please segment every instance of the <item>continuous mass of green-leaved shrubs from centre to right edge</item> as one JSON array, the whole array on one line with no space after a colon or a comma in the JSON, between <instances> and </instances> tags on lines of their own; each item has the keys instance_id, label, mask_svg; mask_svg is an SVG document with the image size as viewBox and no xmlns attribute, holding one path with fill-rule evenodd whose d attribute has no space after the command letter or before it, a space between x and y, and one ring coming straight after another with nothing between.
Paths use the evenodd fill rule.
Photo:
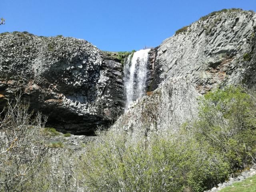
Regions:
<instances>
[{"instance_id":1,"label":"continuous mass of green-leaved shrubs from centre to right edge","mask_svg":"<svg viewBox=\"0 0 256 192\"><path fill-rule=\"evenodd\" d=\"M200 103L198 120L178 134L153 131L134 140L122 128L101 132L82 157L86 186L202 192L250 165L256 157L255 100L242 88L228 87L209 92Z\"/></svg>"}]
</instances>

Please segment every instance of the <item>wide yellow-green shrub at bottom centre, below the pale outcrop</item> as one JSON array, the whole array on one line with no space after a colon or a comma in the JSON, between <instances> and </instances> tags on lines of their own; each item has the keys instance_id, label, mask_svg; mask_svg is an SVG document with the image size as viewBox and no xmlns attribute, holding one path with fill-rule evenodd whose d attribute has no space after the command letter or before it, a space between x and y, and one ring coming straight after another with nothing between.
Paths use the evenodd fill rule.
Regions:
<instances>
[{"instance_id":1,"label":"wide yellow-green shrub at bottom centre, below the pale outcrop","mask_svg":"<svg viewBox=\"0 0 256 192\"><path fill-rule=\"evenodd\" d=\"M92 191L203 191L228 176L229 164L191 137L152 134L136 143L126 132L102 133L82 157Z\"/></svg>"}]
</instances>

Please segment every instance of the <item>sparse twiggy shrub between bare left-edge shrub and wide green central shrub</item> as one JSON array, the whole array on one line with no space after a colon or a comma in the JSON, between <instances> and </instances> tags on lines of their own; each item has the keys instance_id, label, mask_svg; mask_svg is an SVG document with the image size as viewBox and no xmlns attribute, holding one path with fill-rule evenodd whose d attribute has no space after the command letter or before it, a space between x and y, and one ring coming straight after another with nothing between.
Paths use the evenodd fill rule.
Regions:
<instances>
[{"instance_id":1,"label":"sparse twiggy shrub between bare left-edge shrub and wide green central shrub","mask_svg":"<svg viewBox=\"0 0 256 192\"><path fill-rule=\"evenodd\" d=\"M23 186L26 192L73 192L88 191L81 186L82 176L78 173L78 158L73 158L72 153L58 153L51 156L41 164L37 175L32 176Z\"/></svg>"}]
</instances>

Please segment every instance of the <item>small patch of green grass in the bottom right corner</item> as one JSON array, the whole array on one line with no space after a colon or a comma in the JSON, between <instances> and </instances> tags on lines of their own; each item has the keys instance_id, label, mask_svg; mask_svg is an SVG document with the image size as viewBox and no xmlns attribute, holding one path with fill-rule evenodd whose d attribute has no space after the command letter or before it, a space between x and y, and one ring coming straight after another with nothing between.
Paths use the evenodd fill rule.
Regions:
<instances>
[{"instance_id":1,"label":"small patch of green grass in the bottom right corner","mask_svg":"<svg viewBox=\"0 0 256 192\"><path fill-rule=\"evenodd\" d=\"M247 178L242 182L235 182L232 186L228 186L219 192L255 192L256 191L256 175Z\"/></svg>"}]
</instances>

